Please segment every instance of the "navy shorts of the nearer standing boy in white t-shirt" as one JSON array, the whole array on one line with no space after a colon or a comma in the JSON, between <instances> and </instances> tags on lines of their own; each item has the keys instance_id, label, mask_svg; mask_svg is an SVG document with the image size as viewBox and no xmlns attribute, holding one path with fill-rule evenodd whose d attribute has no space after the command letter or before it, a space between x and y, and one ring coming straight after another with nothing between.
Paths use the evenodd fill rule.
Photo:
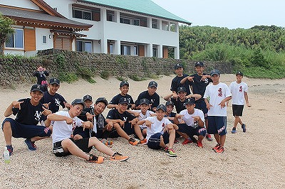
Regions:
<instances>
[{"instance_id":1,"label":"navy shorts of the nearer standing boy in white t-shirt","mask_svg":"<svg viewBox=\"0 0 285 189\"><path fill-rule=\"evenodd\" d=\"M209 116L208 117L208 134L227 134L227 117Z\"/></svg>"}]
</instances>

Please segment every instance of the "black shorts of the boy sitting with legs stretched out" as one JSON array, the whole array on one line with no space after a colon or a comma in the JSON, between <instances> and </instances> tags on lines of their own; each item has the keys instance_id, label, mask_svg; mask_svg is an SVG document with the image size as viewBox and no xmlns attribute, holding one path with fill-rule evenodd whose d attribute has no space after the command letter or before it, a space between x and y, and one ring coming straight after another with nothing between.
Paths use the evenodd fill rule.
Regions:
<instances>
[{"instance_id":1,"label":"black shorts of the boy sitting with legs stretched out","mask_svg":"<svg viewBox=\"0 0 285 189\"><path fill-rule=\"evenodd\" d=\"M88 147L89 145L89 138L83 138L83 139L79 139L77 141L74 141L74 139L70 138L71 141L73 141L74 144L76 144L76 146L78 146L78 148L80 148L82 151L89 153L92 149L92 146ZM62 157L62 156L68 156L71 153L65 152L63 151L63 147L61 145L61 141L57 141L55 143L53 143L53 153L54 155L58 156L58 157Z\"/></svg>"}]
</instances>

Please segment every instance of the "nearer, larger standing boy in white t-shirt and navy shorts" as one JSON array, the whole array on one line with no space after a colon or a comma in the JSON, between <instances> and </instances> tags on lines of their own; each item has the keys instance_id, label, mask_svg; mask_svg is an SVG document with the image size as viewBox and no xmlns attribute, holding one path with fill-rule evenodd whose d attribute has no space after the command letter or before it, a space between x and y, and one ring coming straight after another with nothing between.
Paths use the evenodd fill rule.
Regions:
<instances>
[{"instance_id":1,"label":"nearer, larger standing boy in white t-shirt and navy shorts","mask_svg":"<svg viewBox=\"0 0 285 189\"><path fill-rule=\"evenodd\" d=\"M210 72L212 84L207 85L204 93L208 114L208 134L214 134L217 145L213 150L217 153L224 152L224 142L227 134L227 106L226 102L232 99L232 94L226 84L219 82L219 70Z\"/></svg>"}]
</instances>

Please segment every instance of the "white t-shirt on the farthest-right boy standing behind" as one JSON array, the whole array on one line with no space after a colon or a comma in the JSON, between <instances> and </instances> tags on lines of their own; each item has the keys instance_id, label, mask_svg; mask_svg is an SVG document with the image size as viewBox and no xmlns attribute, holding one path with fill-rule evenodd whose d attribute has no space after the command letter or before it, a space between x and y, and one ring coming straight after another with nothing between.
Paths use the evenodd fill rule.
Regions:
<instances>
[{"instance_id":1,"label":"white t-shirt on the farthest-right boy standing behind","mask_svg":"<svg viewBox=\"0 0 285 189\"><path fill-rule=\"evenodd\" d=\"M232 104L244 105L244 92L249 90L247 83L232 82L229 85L229 90L232 92Z\"/></svg>"}]
</instances>

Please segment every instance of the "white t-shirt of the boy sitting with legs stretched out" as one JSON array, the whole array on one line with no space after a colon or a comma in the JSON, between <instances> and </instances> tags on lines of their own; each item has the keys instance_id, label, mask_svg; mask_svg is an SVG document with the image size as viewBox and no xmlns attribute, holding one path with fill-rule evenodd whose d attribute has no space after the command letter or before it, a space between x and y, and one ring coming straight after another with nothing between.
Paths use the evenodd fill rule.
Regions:
<instances>
[{"instance_id":1,"label":"white t-shirt of the boy sitting with legs stretched out","mask_svg":"<svg viewBox=\"0 0 285 189\"><path fill-rule=\"evenodd\" d=\"M55 114L71 118L71 116L66 111L59 111ZM52 135L53 143L62 141L63 139L71 138L73 125L82 126L82 120L78 117L73 117L73 124L66 124L66 121L54 121Z\"/></svg>"}]
</instances>

